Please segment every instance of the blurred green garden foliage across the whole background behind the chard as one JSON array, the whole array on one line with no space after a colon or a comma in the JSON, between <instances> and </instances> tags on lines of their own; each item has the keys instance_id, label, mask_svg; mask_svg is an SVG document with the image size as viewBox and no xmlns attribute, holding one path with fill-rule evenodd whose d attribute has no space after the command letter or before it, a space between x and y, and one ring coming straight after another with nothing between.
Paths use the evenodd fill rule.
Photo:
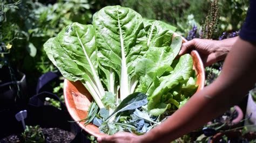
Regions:
<instances>
[{"instance_id":1,"label":"blurred green garden foliage across the whole background behind the chard","mask_svg":"<svg viewBox=\"0 0 256 143\"><path fill-rule=\"evenodd\" d=\"M218 1L220 18L213 31L214 39L221 34L225 36L224 32L239 31L248 1ZM177 33L189 40L198 38L211 2L213 0L1 0L0 53L10 54L1 54L0 67L8 65L7 59L27 75L29 84L35 84L41 74L57 71L43 50L44 42L72 22L90 24L93 13L106 5L129 7L145 18L177 26Z\"/></svg>"}]
</instances>

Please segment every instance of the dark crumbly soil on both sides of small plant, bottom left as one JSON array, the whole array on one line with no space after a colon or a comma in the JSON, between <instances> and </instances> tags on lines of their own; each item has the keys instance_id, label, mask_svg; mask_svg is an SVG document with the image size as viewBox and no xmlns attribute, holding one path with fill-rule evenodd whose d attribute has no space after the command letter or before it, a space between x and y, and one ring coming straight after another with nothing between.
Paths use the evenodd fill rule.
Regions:
<instances>
[{"instance_id":1,"label":"dark crumbly soil on both sides of small plant, bottom left","mask_svg":"<svg viewBox=\"0 0 256 143\"><path fill-rule=\"evenodd\" d=\"M45 142L71 142L75 135L69 131L60 128L42 128ZM21 135L12 134L6 138L0 139L0 142L21 142Z\"/></svg>"}]
</instances>

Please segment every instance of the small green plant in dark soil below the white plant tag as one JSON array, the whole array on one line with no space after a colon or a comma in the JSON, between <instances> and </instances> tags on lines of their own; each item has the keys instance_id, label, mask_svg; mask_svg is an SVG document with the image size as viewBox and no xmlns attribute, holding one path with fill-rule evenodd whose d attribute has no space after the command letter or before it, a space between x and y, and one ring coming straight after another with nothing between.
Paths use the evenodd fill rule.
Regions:
<instances>
[{"instance_id":1,"label":"small green plant in dark soil below the white plant tag","mask_svg":"<svg viewBox=\"0 0 256 143\"><path fill-rule=\"evenodd\" d=\"M22 133L24 142L44 142L44 134L39 125L26 126L25 131Z\"/></svg>"}]
</instances>

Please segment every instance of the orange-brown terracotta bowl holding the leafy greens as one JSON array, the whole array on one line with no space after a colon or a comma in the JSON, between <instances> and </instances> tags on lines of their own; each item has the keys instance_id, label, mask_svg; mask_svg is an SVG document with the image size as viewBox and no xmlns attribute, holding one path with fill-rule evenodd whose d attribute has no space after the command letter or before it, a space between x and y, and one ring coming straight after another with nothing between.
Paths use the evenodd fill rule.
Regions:
<instances>
[{"instance_id":1,"label":"orange-brown terracotta bowl holding the leafy greens","mask_svg":"<svg viewBox=\"0 0 256 143\"><path fill-rule=\"evenodd\" d=\"M178 34L174 33L173 37L177 36ZM187 40L183 38L183 42ZM205 73L204 73L204 66L203 62L197 51L192 51L191 56L193 58L193 68L196 70L197 73L197 84L198 90L203 89L204 82L205 82ZM84 85L77 82L72 82L68 80L64 80L64 98L66 107L71 115L71 117L77 121L77 124L83 128L86 132L94 135L95 137L100 137L103 133L99 132L99 128L93 124L89 124L84 126L84 121L80 121L87 116L88 108L92 101L92 96L90 95L89 91L86 90Z\"/></svg>"}]
</instances>

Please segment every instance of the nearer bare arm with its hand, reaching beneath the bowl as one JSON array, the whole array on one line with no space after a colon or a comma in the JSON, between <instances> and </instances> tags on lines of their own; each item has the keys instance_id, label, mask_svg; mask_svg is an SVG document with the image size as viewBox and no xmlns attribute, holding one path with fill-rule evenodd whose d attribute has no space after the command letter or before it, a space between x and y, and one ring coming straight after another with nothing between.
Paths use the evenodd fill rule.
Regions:
<instances>
[{"instance_id":1,"label":"nearer bare arm with its hand, reaching beneath the bowl","mask_svg":"<svg viewBox=\"0 0 256 143\"><path fill-rule=\"evenodd\" d=\"M238 103L256 81L256 46L237 38L228 53L220 76L194 94L166 121L144 135L117 133L100 142L170 142L191 132Z\"/></svg>"}]
</instances>

